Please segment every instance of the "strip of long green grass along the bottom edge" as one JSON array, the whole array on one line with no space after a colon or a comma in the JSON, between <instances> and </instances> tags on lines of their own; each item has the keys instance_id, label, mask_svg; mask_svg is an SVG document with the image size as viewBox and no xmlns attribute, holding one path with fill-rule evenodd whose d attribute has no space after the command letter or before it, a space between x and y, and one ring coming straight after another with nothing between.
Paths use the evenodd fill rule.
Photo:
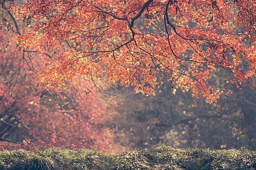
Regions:
<instances>
[{"instance_id":1,"label":"strip of long green grass along the bottom edge","mask_svg":"<svg viewBox=\"0 0 256 170\"><path fill-rule=\"evenodd\" d=\"M61 148L0 151L0 170L256 170L256 152L165 145L121 154Z\"/></svg>"}]
</instances>

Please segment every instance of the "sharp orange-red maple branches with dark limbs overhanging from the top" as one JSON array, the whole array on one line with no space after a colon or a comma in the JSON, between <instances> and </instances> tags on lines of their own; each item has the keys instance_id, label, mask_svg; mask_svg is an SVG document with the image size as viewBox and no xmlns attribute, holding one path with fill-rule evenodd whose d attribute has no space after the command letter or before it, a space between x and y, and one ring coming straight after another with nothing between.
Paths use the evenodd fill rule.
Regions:
<instances>
[{"instance_id":1,"label":"sharp orange-red maple branches with dark limbs overhanging from the top","mask_svg":"<svg viewBox=\"0 0 256 170\"><path fill-rule=\"evenodd\" d=\"M255 0L27 0L8 10L23 21L14 40L45 61L47 88L82 75L148 96L167 80L174 94L214 103L228 94L208 85L217 68L241 91L255 78Z\"/></svg>"}]
</instances>

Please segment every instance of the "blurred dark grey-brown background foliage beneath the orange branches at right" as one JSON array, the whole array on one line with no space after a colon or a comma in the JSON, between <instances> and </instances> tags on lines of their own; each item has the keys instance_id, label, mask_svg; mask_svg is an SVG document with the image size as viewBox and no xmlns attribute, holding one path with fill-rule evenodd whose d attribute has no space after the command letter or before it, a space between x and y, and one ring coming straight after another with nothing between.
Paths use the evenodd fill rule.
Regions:
<instances>
[{"instance_id":1,"label":"blurred dark grey-brown background foliage beneath the orange branches at right","mask_svg":"<svg viewBox=\"0 0 256 170\"><path fill-rule=\"evenodd\" d=\"M172 85L158 86L156 97L145 98L132 89L117 87L118 114L115 128L123 145L146 148L158 144L174 147L256 149L256 90L243 85L245 93L235 85L227 85L221 75L213 75L229 96L215 105L195 99L190 93L172 94ZM120 139L119 139L120 140ZM118 140L118 141L119 141Z\"/></svg>"}]
</instances>

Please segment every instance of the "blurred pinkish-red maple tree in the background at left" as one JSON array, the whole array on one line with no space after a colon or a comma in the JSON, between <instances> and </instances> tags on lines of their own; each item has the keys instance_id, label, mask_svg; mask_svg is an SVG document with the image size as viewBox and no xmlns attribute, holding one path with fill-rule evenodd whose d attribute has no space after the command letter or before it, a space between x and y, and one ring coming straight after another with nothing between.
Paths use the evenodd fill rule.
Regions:
<instances>
[{"instance_id":1,"label":"blurred pinkish-red maple tree in the background at left","mask_svg":"<svg viewBox=\"0 0 256 170\"><path fill-rule=\"evenodd\" d=\"M117 152L108 128L112 103L102 99L92 81L82 78L76 80L76 88L44 89L36 76L42 67L39 56L33 49L21 51L11 40L15 26L1 12L0 149L98 146L99 151Z\"/></svg>"}]
</instances>

